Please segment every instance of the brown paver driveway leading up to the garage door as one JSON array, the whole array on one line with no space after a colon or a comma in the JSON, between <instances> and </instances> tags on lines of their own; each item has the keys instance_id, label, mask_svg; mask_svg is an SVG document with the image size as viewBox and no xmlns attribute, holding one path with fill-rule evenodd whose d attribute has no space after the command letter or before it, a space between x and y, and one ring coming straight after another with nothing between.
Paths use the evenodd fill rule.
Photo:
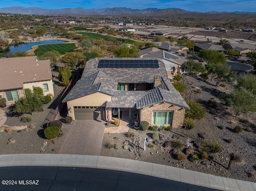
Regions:
<instances>
[{"instance_id":1,"label":"brown paver driveway leading up to the garage door","mask_svg":"<svg viewBox=\"0 0 256 191\"><path fill-rule=\"evenodd\" d=\"M104 122L75 120L71 126L59 154L100 155Z\"/></svg>"}]
</instances>

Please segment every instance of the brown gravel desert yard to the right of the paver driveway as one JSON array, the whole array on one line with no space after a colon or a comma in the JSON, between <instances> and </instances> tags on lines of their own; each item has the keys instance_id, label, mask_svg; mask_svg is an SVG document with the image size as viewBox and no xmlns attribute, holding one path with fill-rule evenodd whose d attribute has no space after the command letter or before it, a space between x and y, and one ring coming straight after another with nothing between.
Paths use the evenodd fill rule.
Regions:
<instances>
[{"instance_id":1,"label":"brown gravel desert yard to the right of the paver driveway","mask_svg":"<svg viewBox=\"0 0 256 191\"><path fill-rule=\"evenodd\" d=\"M163 165L170 165L174 167L180 167L184 169L190 169L194 171L200 171L204 173L210 173L213 175L220 175L224 177L242 179L246 181L256 181L255 179L255 153L256 153L256 114L249 113L247 115L241 114L238 117L234 117L234 113L231 108L224 105L224 102L220 100L221 95L224 92L229 92L232 87L228 85L226 88L215 87L211 83L205 83L199 78L185 77L184 83L188 85L184 98L188 100L196 100L200 102L206 109L206 117L203 120L196 121L195 127L192 130L186 130L185 137L182 137L184 132L183 128L173 129L171 132L163 130L160 134L164 134L162 139L158 140L158 143L152 143L152 139L148 139L152 136L154 131L137 131L130 128L129 132L134 132L135 135L141 137L140 153L143 161L152 163L160 163ZM196 93L196 88L202 89L202 93ZM207 104L210 98L215 98L218 102L216 108L212 108ZM240 125L244 129L246 127L252 128L252 132L243 130L241 134L236 134L233 129L234 126ZM220 126L224 128L221 129ZM202 139L198 137L198 133L205 133L206 138ZM118 140L114 140L114 137L118 137ZM148 139L148 143L154 146L154 148L146 148L144 151L144 138ZM164 147L163 144L166 140L180 139L184 146L186 140L189 138L190 142L201 145L198 149L194 144L194 154L198 154L204 150L204 142L210 142L211 140L218 141L222 146L222 152L219 154L210 154L206 160L200 159L198 163L192 163L189 161L190 154L187 154L187 158L183 161L179 161L175 156L175 151L172 152L172 147ZM227 143L227 139L234 138L233 143ZM113 156L118 158L135 159L134 151L124 150L124 142L129 140L125 134L105 134L102 144L101 155ZM131 142L131 139L130 139ZM116 144L118 149L106 148L106 143ZM132 148L132 144L129 144ZM171 152L170 152L171 151ZM182 152L186 153L186 146ZM192 151L193 152L193 151ZM230 160L230 154L234 152L242 157L242 161L232 163L230 170L227 170L228 162ZM173 155L174 154L174 155ZM250 173L250 175L249 175ZM250 177L249 177L250 176Z\"/></svg>"}]
</instances>

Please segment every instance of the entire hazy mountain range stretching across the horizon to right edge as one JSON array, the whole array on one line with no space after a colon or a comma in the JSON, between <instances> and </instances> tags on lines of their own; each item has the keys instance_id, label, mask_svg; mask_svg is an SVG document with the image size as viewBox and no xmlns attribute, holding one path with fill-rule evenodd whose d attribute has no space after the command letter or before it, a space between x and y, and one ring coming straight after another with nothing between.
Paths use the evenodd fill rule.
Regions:
<instances>
[{"instance_id":1,"label":"entire hazy mountain range stretching across the horizon to right edge","mask_svg":"<svg viewBox=\"0 0 256 191\"><path fill-rule=\"evenodd\" d=\"M116 15L116 14L154 14L158 13L160 15L164 14L184 14L184 13L196 13L190 12L183 9L177 8L146 8L146 9L132 9L126 7L114 7L114 8L102 8L102 9L84 9L84 8L64 8L64 9L43 9L38 7L6 7L0 8L0 13L11 13L11 14L32 14L32 15L63 15L63 14L102 14L102 15ZM210 11L206 14L221 14L221 13L236 13L236 14L256 14L256 12L217 12Z\"/></svg>"}]
</instances>

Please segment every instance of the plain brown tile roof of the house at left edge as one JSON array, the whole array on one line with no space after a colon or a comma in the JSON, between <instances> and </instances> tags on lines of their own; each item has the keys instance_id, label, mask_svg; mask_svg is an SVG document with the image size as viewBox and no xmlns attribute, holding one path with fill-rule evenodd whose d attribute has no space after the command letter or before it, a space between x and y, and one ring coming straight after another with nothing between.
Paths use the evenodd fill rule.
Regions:
<instances>
[{"instance_id":1,"label":"plain brown tile roof of the house at left edge","mask_svg":"<svg viewBox=\"0 0 256 191\"><path fill-rule=\"evenodd\" d=\"M21 89L23 83L52 79L49 60L36 56L1 58L0 90Z\"/></svg>"}]
</instances>

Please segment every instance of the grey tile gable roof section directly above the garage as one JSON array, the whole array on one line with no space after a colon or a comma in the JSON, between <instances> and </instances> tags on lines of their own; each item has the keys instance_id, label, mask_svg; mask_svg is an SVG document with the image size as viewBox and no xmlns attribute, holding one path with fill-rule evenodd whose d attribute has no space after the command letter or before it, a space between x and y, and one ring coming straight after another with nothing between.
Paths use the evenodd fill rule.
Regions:
<instances>
[{"instance_id":1,"label":"grey tile gable roof section directly above the garage","mask_svg":"<svg viewBox=\"0 0 256 191\"><path fill-rule=\"evenodd\" d=\"M88 76L82 77L62 101L67 102L76 98L101 92L107 95L115 95L118 83L98 70Z\"/></svg>"}]
</instances>

